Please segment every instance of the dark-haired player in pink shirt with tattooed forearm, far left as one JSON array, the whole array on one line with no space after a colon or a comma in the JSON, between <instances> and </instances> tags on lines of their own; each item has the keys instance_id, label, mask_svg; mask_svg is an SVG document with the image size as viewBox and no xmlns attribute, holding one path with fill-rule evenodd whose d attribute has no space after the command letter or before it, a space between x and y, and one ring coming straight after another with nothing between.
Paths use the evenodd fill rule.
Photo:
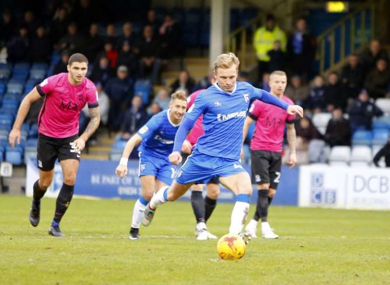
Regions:
<instances>
[{"instance_id":1,"label":"dark-haired player in pink shirt with tattooed forearm, far left","mask_svg":"<svg viewBox=\"0 0 390 285\"><path fill-rule=\"evenodd\" d=\"M39 179L35 181L30 223L34 227L40 220L40 199L53 181L54 163L58 158L63 174L63 184L57 197L56 208L49 234L64 236L59 223L73 197L80 152L85 142L95 132L100 122L100 110L95 85L85 74L88 59L82 54L73 54L68 61L68 73L60 73L45 79L34 87L21 101L16 120L9 134L12 147L20 144L20 126L33 102L45 97L38 115L37 160ZM88 103L91 121L78 136L78 118Z\"/></svg>"}]
</instances>

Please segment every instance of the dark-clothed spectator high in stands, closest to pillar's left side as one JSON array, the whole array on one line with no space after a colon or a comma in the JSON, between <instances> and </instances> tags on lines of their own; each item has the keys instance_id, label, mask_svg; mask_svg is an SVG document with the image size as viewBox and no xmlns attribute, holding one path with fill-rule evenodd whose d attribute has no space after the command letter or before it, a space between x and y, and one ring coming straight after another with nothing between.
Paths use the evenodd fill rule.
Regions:
<instances>
[{"instance_id":1,"label":"dark-clothed spectator high in stands, closest to pillar's left side","mask_svg":"<svg viewBox=\"0 0 390 285\"><path fill-rule=\"evenodd\" d=\"M153 29L153 28L152 28ZM159 29L161 37L161 55L163 58L177 57L182 54L182 32L180 25L172 14L164 16L164 22Z\"/></svg>"}]
</instances>

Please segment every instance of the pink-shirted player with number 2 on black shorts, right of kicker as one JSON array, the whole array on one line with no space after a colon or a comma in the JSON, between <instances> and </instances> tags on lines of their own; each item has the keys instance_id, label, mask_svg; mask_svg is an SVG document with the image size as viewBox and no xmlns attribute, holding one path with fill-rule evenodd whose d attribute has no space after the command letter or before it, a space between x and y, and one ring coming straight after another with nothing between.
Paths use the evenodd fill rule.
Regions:
<instances>
[{"instance_id":1,"label":"pink-shirted player with number 2 on black shorts, right of kicker","mask_svg":"<svg viewBox=\"0 0 390 285\"><path fill-rule=\"evenodd\" d=\"M270 76L269 85L271 94L288 104L294 104L284 96L287 85L287 76L283 71L274 71ZM256 121L256 128L251 140L251 169L252 177L257 184L258 196L256 212L253 219L246 226L246 230L253 238L257 238L256 227L259 219L262 220L262 236L265 239L277 239L278 235L271 229L267 216L268 207L276 194L280 181L281 150L283 134L287 126L287 140L291 150L287 161L293 168L296 163L295 153L295 115L288 114L275 106L265 104L259 100L253 102L244 123L243 141L248 133L249 126Z\"/></svg>"}]
</instances>

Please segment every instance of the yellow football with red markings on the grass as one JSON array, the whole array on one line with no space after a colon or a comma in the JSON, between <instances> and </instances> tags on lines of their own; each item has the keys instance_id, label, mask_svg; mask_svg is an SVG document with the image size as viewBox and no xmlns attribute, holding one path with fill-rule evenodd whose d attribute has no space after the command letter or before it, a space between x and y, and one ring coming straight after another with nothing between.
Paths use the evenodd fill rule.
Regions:
<instances>
[{"instance_id":1,"label":"yellow football with red markings on the grass","mask_svg":"<svg viewBox=\"0 0 390 285\"><path fill-rule=\"evenodd\" d=\"M225 234L216 244L218 255L225 260L240 259L244 256L246 244L237 234Z\"/></svg>"}]
</instances>

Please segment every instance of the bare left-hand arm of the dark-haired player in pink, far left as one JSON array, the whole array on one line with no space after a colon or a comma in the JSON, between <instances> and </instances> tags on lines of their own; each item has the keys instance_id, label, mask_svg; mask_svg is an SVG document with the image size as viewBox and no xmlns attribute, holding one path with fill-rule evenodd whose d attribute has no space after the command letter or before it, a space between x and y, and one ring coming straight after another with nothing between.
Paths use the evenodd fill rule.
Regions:
<instances>
[{"instance_id":1,"label":"bare left-hand arm of the dark-haired player in pink, far left","mask_svg":"<svg viewBox=\"0 0 390 285\"><path fill-rule=\"evenodd\" d=\"M42 97L38 93L36 87L34 87L30 93L21 101L19 110L17 111L15 123L13 124L12 130L9 134L8 140L11 147L15 146L15 139L17 144L20 144L20 127L21 124L25 121L25 118L30 110L30 106L35 101L38 101Z\"/></svg>"}]
</instances>

